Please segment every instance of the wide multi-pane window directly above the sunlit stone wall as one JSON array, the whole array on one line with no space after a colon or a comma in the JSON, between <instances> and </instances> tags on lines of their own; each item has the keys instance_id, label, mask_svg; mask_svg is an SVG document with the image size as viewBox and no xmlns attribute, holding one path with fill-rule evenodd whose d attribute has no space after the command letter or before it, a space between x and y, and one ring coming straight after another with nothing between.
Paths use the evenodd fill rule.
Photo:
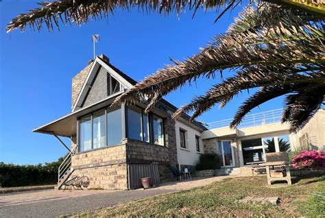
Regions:
<instances>
[{"instance_id":1,"label":"wide multi-pane window directly above the sunlit stone wall","mask_svg":"<svg viewBox=\"0 0 325 218\"><path fill-rule=\"evenodd\" d=\"M80 152L118 145L121 139L121 108L99 110L80 119Z\"/></svg>"}]
</instances>

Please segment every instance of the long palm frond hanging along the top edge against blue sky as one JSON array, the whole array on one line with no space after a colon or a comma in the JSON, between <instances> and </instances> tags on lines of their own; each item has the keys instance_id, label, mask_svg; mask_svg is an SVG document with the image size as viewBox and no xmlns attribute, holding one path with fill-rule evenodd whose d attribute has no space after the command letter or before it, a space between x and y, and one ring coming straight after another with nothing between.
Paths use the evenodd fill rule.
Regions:
<instances>
[{"instance_id":1,"label":"long palm frond hanging along the top edge against blue sky","mask_svg":"<svg viewBox=\"0 0 325 218\"><path fill-rule=\"evenodd\" d=\"M121 1L121 0L61 0L53 2L39 3L41 8L29 10L28 13L19 14L12 19L6 28L7 32L11 32L16 28L25 31L26 25L40 31L42 25L45 24L49 31L53 31L53 27L59 28L60 21L65 25L88 23L91 19L108 19L108 14L112 14L117 8L122 10L131 10L137 8L144 12L153 11L159 14L168 15L169 13L184 11L185 8L194 12L202 8L204 10L214 9L217 12L226 7L230 3L239 3L241 0L141 0L141 1ZM228 10L226 8L226 10Z\"/></svg>"}]
</instances>

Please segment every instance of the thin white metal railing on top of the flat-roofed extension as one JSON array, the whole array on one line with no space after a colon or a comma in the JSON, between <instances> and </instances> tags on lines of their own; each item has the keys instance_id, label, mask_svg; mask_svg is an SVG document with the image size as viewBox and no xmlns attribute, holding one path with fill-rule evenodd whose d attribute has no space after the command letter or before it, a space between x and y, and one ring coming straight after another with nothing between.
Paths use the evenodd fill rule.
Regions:
<instances>
[{"instance_id":1,"label":"thin white metal railing on top of the flat-roofed extension","mask_svg":"<svg viewBox=\"0 0 325 218\"><path fill-rule=\"evenodd\" d=\"M247 128L255 125L265 125L269 123L280 122L282 117L282 108L276 110L267 110L255 114L248 114L243 118L237 128ZM222 121L215 121L208 123L208 129L224 128L230 125L232 119L225 119Z\"/></svg>"}]
</instances>

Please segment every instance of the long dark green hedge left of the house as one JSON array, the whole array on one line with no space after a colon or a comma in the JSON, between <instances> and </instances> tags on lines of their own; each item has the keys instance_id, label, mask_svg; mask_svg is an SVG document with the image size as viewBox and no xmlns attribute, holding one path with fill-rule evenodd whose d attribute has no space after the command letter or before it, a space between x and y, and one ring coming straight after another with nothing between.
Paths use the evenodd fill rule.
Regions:
<instances>
[{"instance_id":1,"label":"long dark green hedge left of the house","mask_svg":"<svg viewBox=\"0 0 325 218\"><path fill-rule=\"evenodd\" d=\"M3 187L55 184L62 158L38 165L14 165L0 162L0 183Z\"/></svg>"}]
</instances>

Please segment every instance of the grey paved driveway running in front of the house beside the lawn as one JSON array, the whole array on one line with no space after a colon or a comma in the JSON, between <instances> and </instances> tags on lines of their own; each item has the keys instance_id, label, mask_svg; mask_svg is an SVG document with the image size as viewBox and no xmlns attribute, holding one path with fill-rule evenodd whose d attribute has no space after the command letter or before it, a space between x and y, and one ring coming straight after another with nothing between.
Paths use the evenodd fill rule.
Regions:
<instances>
[{"instance_id":1,"label":"grey paved driveway running in front of the house beside the lawn","mask_svg":"<svg viewBox=\"0 0 325 218\"><path fill-rule=\"evenodd\" d=\"M84 210L130 202L142 197L203 186L233 176L218 176L186 182L168 182L153 189L132 191L25 191L0 195L0 217L58 217Z\"/></svg>"}]
</instances>

